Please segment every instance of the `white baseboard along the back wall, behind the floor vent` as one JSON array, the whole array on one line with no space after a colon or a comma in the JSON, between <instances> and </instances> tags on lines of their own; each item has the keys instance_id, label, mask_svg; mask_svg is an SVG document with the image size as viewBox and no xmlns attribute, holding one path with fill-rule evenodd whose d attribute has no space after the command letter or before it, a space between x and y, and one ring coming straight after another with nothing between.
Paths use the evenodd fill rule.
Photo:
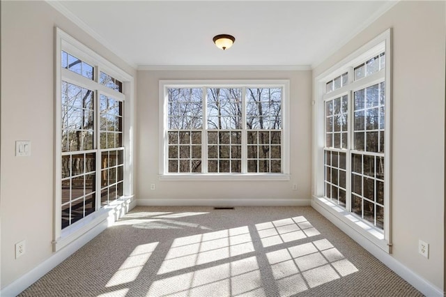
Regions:
<instances>
[{"instance_id":1,"label":"white baseboard along the back wall, behind the floor vent","mask_svg":"<svg viewBox=\"0 0 446 297\"><path fill-rule=\"evenodd\" d=\"M311 206L309 199L137 199L138 206Z\"/></svg>"}]
</instances>

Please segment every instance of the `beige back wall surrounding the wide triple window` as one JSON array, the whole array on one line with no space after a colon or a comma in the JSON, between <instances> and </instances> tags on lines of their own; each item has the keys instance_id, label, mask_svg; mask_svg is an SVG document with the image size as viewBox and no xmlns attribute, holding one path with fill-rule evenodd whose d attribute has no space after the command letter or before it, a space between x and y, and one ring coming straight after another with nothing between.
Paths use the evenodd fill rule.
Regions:
<instances>
[{"instance_id":1,"label":"beige back wall surrounding the wide triple window","mask_svg":"<svg viewBox=\"0 0 446 297\"><path fill-rule=\"evenodd\" d=\"M291 105L291 181L160 181L160 79L289 79ZM137 199L138 204L309 204L311 163L311 71L138 71L137 74ZM156 190L150 190L155 183ZM297 183L298 190L292 190ZM169 201L169 199L180 199ZM204 199L192 201L190 199ZM244 199L240 201L240 199ZM257 200L257 199L260 199ZM188 201L187 201L188 200ZM256 200L256 201L254 201Z\"/></svg>"}]
</instances>

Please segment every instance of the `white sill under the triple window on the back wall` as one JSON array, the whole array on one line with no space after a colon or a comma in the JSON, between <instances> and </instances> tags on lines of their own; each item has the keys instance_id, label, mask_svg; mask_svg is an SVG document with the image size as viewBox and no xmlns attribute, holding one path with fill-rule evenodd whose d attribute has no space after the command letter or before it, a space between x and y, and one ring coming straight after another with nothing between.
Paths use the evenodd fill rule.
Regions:
<instances>
[{"instance_id":1,"label":"white sill under the triple window on the back wall","mask_svg":"<svg viewBox=\"0 0 446 297\"><path fill-rule=\"evenodd\" d=\"M160 174L160 181L289 181L289 174Z\"/></svg>"}]
</instances>

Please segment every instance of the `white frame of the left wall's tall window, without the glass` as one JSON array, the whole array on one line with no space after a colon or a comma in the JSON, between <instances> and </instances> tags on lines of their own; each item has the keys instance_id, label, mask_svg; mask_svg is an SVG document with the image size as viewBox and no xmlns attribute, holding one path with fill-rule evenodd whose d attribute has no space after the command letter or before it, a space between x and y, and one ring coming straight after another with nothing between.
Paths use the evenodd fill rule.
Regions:
<instances>
[{"instance_id":1,"label":"white frame of the left wall's tall window, without the glass","mask_svg":"<svg viewBox=\"0 0 446 297\"><path fill-rule=\"evenodd\" d=\"M121 70L113 63L107 61L105 58L89 49L68 33L62 31L59 28L55 28L55 43L54 43L54 230L53 230L53 250L54 252L61 250L70 243L74 242L79 236L82 236L89 232L94 227L107 222L107 218L113 212L117 212L123 206L128 206L133 200L133 169L130 167L132 164L132 130L133 130L133 96L134 96L134 79L128 73ZM76 56L78 59L89 63L93 66L94 74L93 80L82 77L77 73L72 73L70 70L62 69L61 67L61 51L66 51L69 54ZM123 82L123 93L118 93L107 86L98 83L98 75L100 71L103 71L109 75L112 75L116 79ZM123 197L112 202L108 206L100 206L100 148L95 148L96 151L96 204L95 211L90 215L82 218L81 220L71 224L70 226L61 229L61 82L65 80L78 86L82 86L86 89L91 89L95 96L95 136L98 138L98 96L99 93L105 94L123 100L124 102L124 114L123 114L123 146L125 147L124 153L124 185L123 185ZM125 100L124 100L125 99ZM82 153L82 151L79 151Z\"/></svg>"}]
</instances>

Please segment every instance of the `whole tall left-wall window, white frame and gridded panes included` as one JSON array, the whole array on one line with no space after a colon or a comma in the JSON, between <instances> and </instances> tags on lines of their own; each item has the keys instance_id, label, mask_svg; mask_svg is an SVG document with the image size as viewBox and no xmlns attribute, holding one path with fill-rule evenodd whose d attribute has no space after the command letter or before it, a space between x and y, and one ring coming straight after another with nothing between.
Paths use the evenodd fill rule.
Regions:
<instances>
[{"instance_id":1,"label":"whole tall left-wall window, white frame and gridded panes included","mask_svg":"<svg viewBox=\"0 0 446 297\"><path fill-rule=\"evenodd\" d=\"M57 250L66 245L61 238L125 196L123 82L132 78L59 29L56 40Z\"/></svg>"}]
</instances>

